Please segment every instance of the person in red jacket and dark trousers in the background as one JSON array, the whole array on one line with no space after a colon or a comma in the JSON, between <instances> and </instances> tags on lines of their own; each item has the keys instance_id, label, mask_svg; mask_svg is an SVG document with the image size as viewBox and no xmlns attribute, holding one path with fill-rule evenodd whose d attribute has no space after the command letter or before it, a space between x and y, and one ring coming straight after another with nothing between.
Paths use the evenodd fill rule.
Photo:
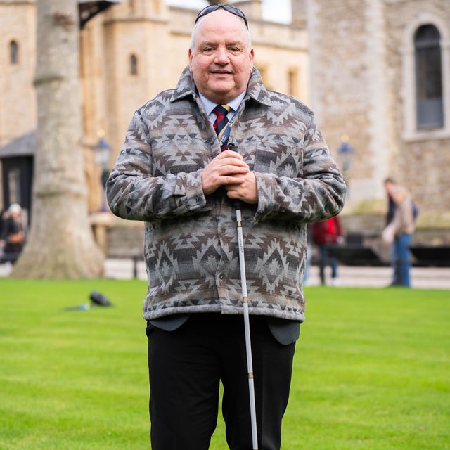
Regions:
<instances>
[{"instance_id":1,"label":"person in red jacket and dark trousers in the background","mask_svg":"<svg viewBox=\"0 0 450 450\"><path fill-rule=\"evenodd\" d=\"M319 269L321 283L325 284L325 266L331 266L331 285L338 286L338 259L328 255L330 246L344 242L344 233L339 217L330 217L325 221L312 224L311 233L314 243L319 247Z\"/></svg>"}]
</instances>

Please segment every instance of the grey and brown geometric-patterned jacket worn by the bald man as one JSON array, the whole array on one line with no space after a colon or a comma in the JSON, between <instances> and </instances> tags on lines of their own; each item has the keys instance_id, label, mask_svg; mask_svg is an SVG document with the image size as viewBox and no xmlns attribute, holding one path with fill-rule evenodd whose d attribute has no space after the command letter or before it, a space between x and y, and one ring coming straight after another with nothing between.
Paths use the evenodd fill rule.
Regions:
<instances>
[{"instance_id":1,"label":"grey and brown geometric-patterned jacket worn by the bald man","mask_svg":"<svg viewBox=\"0 0 450 450\"><path fill-rule=\"evenodd\" d=\"M303 321L306 224L342 210L345 182L311 110L266 90L257 70L231 142L257 179L257 205L242 207L250 314ZM202 188L202 169L219 152L188 68L176 89L134 113L107 195L114 214L146 222L145 319L240 314L233 205L223 190L205 197Z\"/></svg>"}]
</instances>

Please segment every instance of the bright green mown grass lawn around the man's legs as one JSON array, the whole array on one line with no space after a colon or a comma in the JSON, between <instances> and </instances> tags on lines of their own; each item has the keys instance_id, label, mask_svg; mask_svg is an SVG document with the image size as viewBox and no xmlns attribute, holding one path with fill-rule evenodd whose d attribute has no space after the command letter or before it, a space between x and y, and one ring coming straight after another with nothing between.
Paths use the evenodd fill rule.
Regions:
<instances>
[{"instance_id":1,"label":"bright green mown grass lawn around the man's legs","mask_svg":"<svg viewBox=\"0 0 450 450\"><path fill-rule=\"evenodd\" d=\"M94 289L114 306L65 310ZM0 280L0 449L150 448L145 290ZM450 292L307 298L282 448L450 449ZM221 420L211 449L227 449Z\"/></svg>"}]
</instances>

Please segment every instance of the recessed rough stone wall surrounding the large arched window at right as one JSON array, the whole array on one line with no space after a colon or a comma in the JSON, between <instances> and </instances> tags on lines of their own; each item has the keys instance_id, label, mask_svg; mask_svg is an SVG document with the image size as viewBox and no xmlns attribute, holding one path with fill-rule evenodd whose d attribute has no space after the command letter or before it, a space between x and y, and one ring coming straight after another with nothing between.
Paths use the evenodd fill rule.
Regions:
<instances>
[{"instance_id":1,"label":"recessed rough stone wall surrounding the large arched window at right","mask_svg":"<svg viewBox=\"0 0 450 450\"><path fill-rule=\"evenodd\" d=\"M386 3L385 18L386 29L389 32L387 49L390 68L387 76L390 78L392 104L403 105L404 96L411 95L405 91L404 79L401 77L404 63L402 49L405 46L406 30L411 23L415 23L418 16L426 15L430 18L440 18L450 31L450 2L390 0ZM448 41L442 42L442 46L446 48L449 44ZM447 80L448 82L450 80ZM408 186L423 212L429 215L435 215L438 212L449 213L450 134L446 139L434 139L432 135L428 139L426 136L420 139L404 139L404 108L396 108L393 121L395 146L391 160L392 176Z\"/></svg>"}]
</instances>

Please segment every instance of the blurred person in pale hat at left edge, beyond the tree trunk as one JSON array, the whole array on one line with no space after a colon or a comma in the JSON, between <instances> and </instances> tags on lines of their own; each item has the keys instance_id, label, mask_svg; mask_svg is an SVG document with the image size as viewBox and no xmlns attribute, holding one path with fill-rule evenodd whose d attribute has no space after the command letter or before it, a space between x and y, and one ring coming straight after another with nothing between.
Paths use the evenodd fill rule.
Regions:
<instances>
[{"instance_id":1,"label":"blurred person in pale hat at left edge, beyond the tree trunk","mask_svg":"<svg viewBox=\"0 0 450 450\"><path fill-rule=\"evenodd\" d=\"M25 243L25 225L22 207L13 203L8 208L1 230L0 245L4 249L4 259L12 264L18 259Z\"/></svg>"}]
</instances>

